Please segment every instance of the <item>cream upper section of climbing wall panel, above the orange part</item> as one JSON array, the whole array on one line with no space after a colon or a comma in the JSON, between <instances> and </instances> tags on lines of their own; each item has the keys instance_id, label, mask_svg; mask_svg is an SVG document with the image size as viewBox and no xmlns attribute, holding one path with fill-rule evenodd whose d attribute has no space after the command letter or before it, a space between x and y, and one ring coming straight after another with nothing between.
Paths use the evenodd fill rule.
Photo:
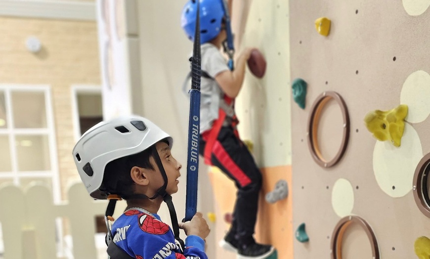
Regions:
<instances>
[{"instance_id":1,"label":"cream upper section of climbing wall panel, above the orange part","mask_svg":"<svg viewBox=\"0 0 430 259\"><path fill-rule=\"evenodd\" d=\"M243 138L254 142L260 167L291 165L288 1L253 0L237 47L256 47L267 61L262 79L246 72L236 111ZM234 8L234 6L233 6Z\"/></svg>"}]
</instances>

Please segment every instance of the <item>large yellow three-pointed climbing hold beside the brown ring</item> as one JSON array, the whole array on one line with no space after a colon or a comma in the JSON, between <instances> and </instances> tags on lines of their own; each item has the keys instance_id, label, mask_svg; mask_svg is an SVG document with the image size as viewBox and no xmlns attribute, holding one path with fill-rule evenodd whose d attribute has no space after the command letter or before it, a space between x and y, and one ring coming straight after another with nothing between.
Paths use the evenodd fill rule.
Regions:
<instances>
[{"instance_id":1,"label":"large yellow three-pointed climbing hold beside the brown ring","mask_svg":"<svg viewBox=\"0 0 430 259\"><path fill-rule=\"evenodd\" d=\"M366 114L364 122L367 129L381 141L390 141L394 146L400 146L400 139L405 129L405 118L408 106L400 104L389 111L375 110Z\"/></svg>"}]
</instances>

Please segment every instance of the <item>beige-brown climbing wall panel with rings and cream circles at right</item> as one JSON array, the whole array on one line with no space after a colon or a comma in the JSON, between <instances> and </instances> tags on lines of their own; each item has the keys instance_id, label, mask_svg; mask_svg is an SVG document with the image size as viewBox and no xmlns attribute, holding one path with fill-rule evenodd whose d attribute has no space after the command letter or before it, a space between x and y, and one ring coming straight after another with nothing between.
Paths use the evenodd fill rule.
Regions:
<instances>
[{"instance_id":1,"label":"beige-brown climbing wall panel with rings and cream circles at right","mask_svg":"<svg viewBox=\"0 0 430 259\"><path fill-rule=\"evenodd\" d=\"M291 78L307 82L304 110L292 102L293 228L306 224L309 242L294 241L294 258L330 258L342 216L372 227L381 257L413 259L414 241L430 236L430 219L414 201L415 168L430 152L429 0L290 0ZM315 19L332 21L321 36ZM278 86L280 87L280 86ZM286 86L291 89L291 86ZM332 168L322 168L308 148L307 122L316 97L336 91L346 103L350 137ZM377 141L363 119L372 110L409 106L401 146ZM270 115L271 116L271 115ZM318 141L333 157L343 134L342 113L330 101L322 111ZM372 258L365 232L351 225L343 259Z\"/></svg>"}]
</instances>

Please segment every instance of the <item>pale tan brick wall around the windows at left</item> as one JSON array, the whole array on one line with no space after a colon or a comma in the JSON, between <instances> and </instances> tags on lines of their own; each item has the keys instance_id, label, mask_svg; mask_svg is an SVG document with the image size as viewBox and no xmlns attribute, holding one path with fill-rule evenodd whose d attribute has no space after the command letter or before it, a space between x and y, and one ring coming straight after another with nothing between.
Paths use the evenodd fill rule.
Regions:
<instances>
[{"instance_id":1,"label":"pale tan brick wall around the windows at left","mask_svg":"<svg viewBox=\"0 0 430 259\"><path fill-rule=\"evenodd\" d=\"M25 46L36 36L42 50ZM0 17L0 84L43 84L51 87L58 165L63 198L78 180L74 146L71 86L100 85L96 22Z\"/></svg>"}]
</instances>

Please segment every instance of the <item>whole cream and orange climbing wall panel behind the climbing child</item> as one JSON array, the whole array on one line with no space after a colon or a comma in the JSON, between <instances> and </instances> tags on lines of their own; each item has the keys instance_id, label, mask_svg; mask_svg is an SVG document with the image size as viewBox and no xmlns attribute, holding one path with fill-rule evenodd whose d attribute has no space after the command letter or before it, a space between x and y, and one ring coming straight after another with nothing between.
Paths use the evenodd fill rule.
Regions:
<instances>
[{"instance_id":1,"label":"whole cream and orange climbing wall panel behind the climbing child","mask_svg":"<svg viewBox=\"0 0 430 259\"><path fill-rule=\"evenodd\" d=\"M256 237L259 242L275 246L279 259L292 259L293 196L290 192L288 198L275 204L264 200L280 179L288 182L290 190L292 187L288 0L238 2L248 4L249 13L244 31L234 32L241 39L237 51L256 47L267 61L266 74L261 79L247 70L236 106L241 121L239 132L243 139L254 143L254 156L263 175ZM235 4L238 3L233 1L233 18L242 18L234 16Z\"/></svg>"}]
</instances>

